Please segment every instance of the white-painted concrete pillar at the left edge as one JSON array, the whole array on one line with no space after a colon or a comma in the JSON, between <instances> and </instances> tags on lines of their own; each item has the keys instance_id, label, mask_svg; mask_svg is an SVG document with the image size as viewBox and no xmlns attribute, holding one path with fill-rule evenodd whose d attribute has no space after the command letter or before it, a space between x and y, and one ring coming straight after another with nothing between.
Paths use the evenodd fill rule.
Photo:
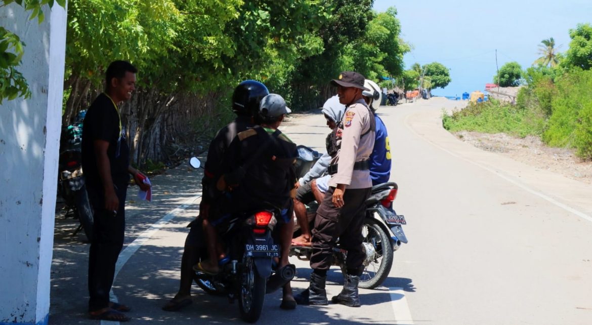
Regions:
<instances>
[{"instance_id":1,"label":"white-painted concrete pillar at the left edge","mask_svg":"<svg viewBox=\"0 0 592 325\"><path fill-rule=\"evenodd\" d=\"M0 105L0 324L47 324L62 125L66 9L45 20L14 3L0 25L26 44L18 68L31 98Z\"/></svg>"}]
</instances>

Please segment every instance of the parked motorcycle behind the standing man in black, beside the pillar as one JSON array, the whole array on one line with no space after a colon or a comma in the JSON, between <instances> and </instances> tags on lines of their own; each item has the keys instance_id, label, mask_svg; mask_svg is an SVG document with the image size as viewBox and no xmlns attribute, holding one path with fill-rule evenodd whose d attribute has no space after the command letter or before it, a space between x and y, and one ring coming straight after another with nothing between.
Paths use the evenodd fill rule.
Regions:
<instances>
[{"instance_id":1,"label":"parked motorcycle behind the standing man in black, beside the pillar","mask_svg":"<svg viewBox=\"0 0 592 325\"><path fill-rule=\"evenodd\" d=\"M72 236L76 236L79 231L83 230L86 239L90 242L94 221L82 172L81 128L82 123L75 123L62 131L57 192L66 204L65 217L67 218L72 211L73 217L80 222Z\"/></svg>"}]
</instances>

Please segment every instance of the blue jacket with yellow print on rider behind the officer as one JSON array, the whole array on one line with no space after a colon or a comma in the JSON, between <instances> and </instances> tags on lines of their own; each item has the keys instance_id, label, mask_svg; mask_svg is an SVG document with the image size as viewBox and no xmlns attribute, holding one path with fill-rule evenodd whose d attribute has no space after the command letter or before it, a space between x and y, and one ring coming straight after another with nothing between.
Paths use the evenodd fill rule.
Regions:
<instances>
[{"instance_id":1,"label":"blue jacket with yellow print on rider behind the officer","mask_svg":"<svg viewBox=\"0 0 592 325\"><path fill-rule=\"evenodd\" d=\"M376 140L369 158L372 186L388 182L391 176L391 146L388 143L387 127L374 113L376 120Z\"/></svg>"}]
</instances>

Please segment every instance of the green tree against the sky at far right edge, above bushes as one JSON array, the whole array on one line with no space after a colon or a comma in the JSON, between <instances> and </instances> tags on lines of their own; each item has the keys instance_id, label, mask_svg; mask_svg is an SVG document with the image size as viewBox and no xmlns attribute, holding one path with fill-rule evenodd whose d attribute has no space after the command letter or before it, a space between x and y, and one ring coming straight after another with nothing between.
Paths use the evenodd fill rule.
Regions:
<instances>
[{"instance_id":1,"label":"green tree against the sky at far right edge, above bushes","mask_svg":"<svg viewBox=\"0 0 592 325\"><path fill-rule=\"evenodd\" d=\"M562 63L568 69L575 66L589 70L592 67L592 25L578 24L570 30L570 38L570 49Z\"/></svg>"}]
</instances>

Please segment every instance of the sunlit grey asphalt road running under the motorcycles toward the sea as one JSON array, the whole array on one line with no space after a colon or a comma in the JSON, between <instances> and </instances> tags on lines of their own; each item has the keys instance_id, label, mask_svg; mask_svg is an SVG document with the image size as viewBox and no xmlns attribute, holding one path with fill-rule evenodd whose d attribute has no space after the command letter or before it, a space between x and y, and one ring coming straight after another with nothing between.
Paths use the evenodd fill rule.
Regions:
<instances>
[{"instance_id":1,"label":"sunlit grey asphalt road running under the motorcycles toward the sea","mask_svg":"<svg viewBox=\"0 0 592 325\"><path fill-rule=\"evenodd\" d=\"M279 309L268 295L260 324L591 324L592 186L483 152L443 130L440 115L461 102L432 98L384 107L390 135L395 210L409 239L395 252L383 287L361 290L361 308ZM329 131L319 112L294 114L281 127L292 140L324 150ZM178 288L185 225L197 214L201 170L187 166L151 179L154 201L131 189L127 246L114 298L131 305L133 323L240 323L238 305L195 287L194 304L160 307ZM86 318L88 244L56 219L50 323ZM297 264L295 291L307 287ZM329 295L341 275L329 273ZM106 322L103 322L106 323Z\"/></svg>"}]
</instances>

